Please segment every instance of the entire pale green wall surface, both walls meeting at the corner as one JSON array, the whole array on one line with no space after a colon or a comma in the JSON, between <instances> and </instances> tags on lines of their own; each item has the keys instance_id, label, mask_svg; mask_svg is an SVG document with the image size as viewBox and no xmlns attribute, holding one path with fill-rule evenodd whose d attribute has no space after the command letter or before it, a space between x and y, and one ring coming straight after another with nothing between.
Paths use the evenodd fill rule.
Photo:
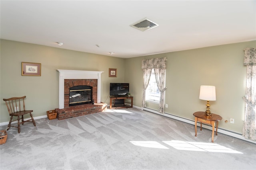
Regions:
<instances>
[{"instance_id":1,"label":"entire pale green wall surface, both walls meeting at the corner","mask_svg":"<svg viewBox=\"0 0 256 170\"><path fill-rule=\"evenodd\" d=\"M216 101L211 101L212 113L223 119L219 127L242 132L244 119L245 74L243 49L256 47L256 41L219 45L121 59L46 47L29 43L1 40L0 51L0 122L9 121L3 98L27 96L27 109L34 117L46 115L58 107L59 77L57 69L104 71L101 101L109 104L109 83L129 82L134 105L142 105L142 59L167 57L166 113L194 120L192 113L204 111L206 101L199 100L200 85L216 86ZM21 62L41 63L42 76L21 76ZM108 77L108 68L117 68L118 77ZM147 103L152 109L158 105ZM224 120L235 120L234 124Z\"/></svg>"}]
</instances>

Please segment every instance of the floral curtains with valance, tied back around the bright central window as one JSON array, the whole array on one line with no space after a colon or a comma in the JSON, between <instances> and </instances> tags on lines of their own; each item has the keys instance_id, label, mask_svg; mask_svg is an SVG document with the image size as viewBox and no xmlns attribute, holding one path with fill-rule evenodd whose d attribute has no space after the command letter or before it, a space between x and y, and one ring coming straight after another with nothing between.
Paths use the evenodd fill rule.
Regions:
<instances>
[{"instance_id":1,"label":"floral curtains with valance, tied back around the bright central window","mask_svg":"<svg viewBox=\"0 0 256 170\"><path fill-rule=\"evenodd\" d=\"M166 57L164 58L155 58L155 59L146 59L142 60L141 69L143 70L143 80L144 80L144 89L142 96L142 107L146 107L146 89L151 76L151 71L154 68L156 74L156 82L158 89L160 91L160 103L159 103L159 112L164 113L164 91L165 87L165 70L166 70Z\"/></svg>"}]
</instances>

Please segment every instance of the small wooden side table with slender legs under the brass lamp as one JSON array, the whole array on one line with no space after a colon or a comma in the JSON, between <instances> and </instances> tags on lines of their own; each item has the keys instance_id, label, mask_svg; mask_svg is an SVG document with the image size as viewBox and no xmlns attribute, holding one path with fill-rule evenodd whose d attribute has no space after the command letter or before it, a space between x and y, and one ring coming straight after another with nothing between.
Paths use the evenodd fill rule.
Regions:
<instances>
[{"instance_id":1,"label":"small wooden side table with slender legs under the brass lamp","mask_svg":"<svg viewBox=\"0 0 256 170\"><path fill-rule=\"evenodd\" d=\"M207 115L204 115L204 111L197 111L193 113L193 115L195 116L195 129L197 127L196 123L198 121L201 123L200 131L202 131L202 123L212 125L212 142L213 142L215 122L216 122L216 135L217 135L218 124L219 124L219 121L222 119L222 117L214 113L212 113L211 116L207 116Z\"/></svg>"}]
</instances>

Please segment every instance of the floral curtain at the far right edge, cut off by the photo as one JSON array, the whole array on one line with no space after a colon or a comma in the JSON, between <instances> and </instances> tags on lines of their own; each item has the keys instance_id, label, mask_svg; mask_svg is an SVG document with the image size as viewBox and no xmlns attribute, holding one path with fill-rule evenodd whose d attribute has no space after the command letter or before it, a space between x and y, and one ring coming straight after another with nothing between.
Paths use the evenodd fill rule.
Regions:
<instances>
[{"instance_id":1,"label":"floral curtain at the far right edge, cut off by the photo","mask_svg":"<svg viewBox=\"0 0 256 170\"><path fill-rule=\"evenodd\" d=\"M244 65L246 66L246 102L242 136L256 141L256 49L244 49Z\"/></svg>"}]
</instances>

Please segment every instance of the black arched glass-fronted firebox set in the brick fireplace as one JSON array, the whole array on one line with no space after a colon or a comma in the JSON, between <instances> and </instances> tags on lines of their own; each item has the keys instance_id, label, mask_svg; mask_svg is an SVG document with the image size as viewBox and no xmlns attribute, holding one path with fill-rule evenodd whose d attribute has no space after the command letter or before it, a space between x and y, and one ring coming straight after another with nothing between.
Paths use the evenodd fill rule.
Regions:
<instances>
[{"instance_id":1,"label":"black arched glass-fronted firebox set in the brick fireplace","mask_svg":"<svg viewBox=\"0 0 256 170\"><path fill-rule=\"evenodd\" d=\"M69 88L69 106L92 103L91 86L73 86Z\"/></svg>"}]
</instances>

